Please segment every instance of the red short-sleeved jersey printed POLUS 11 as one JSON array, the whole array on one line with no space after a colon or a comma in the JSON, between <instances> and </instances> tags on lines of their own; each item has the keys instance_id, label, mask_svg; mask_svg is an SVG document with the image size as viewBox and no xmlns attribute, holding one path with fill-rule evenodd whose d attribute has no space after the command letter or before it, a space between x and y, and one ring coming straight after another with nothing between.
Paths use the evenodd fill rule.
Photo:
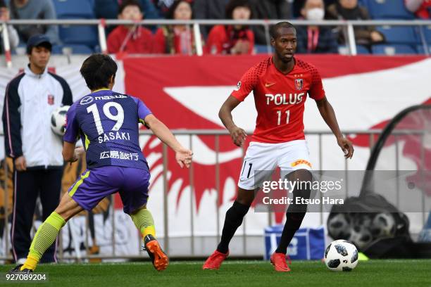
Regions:
<instances>
[{"instance_id":1,"label":"red short-sleeved jersey printed POLUS 11","mask_svg":"<svg viewBox=\"0 0 431 287\"><path fill-rule=\"evenodd\" d=\"M257 110L251 141L278 144L304 136L304 104L307 94L314 100L325 97L322 79L311 64L294 58L295 65L283 74L270 57L249 69L238 82L234 96L244 101L253 91Z\"/></svg>"}]
</instances>

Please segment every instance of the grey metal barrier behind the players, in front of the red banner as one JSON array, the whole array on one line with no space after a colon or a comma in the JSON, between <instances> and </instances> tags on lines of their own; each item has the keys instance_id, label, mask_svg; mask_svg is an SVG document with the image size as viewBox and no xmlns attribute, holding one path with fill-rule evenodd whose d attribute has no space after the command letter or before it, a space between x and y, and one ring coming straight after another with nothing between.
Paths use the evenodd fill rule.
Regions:
<instances>
[{"instance_id":1,"label":"grey metal barrier behind the players, in front of the red banner","mask_svg":"<svg viewBox=\"0 0 431 287\"><path fill-rule=\"evenodd\" d=\"M371 129L371 130L367 130L367 131L363 131L363 130L349 130L349 131L344 131L344 135L346 136L351 136L351 135L366 135L369 136L369 148L370 150L373 148L374 144L375 144L375 136L378 136L379 134L381 134L382 130L380 129ZM139 131L140 135L152 135L152 133L150 131L147 130L141 130ZM214 136L214 147L215 147L215 174L213 174L213 176L215 177L215 221L216 221L216 230L215 230L215 238L216 241L219 240L220 238L220 234L221 234L221 229L220 229L220 210L218 207L218 203L219 203L219 194L221 192L220 189L220 160L219 160L219 154L220 154L220 136L228 136L229 133L224 130L224 129L188 129L188 130L173 130L173 134L175 134L175 136L189 136L189 146L192 149L192 136ZM251 134L250 132L248 134ZM332 135L332 132L330 131L325 131L325 132L320 132L320 131L306 131L305 134L307 136L317 136L317 143L318 143L318 170L323 170L323 136L330 136ZM423 138L424 138L424 132L420 131L420 130L409 130L409 129L399 129L396 130L394 132L392 132L392 134L395 136L395 139L397 136L402 136L402 135L411 135L411 134L415 134L420 136L420 140L421 142L423 142ZM163 144L163 143L162 143ZM396 170L399 169L399 146L398 146L398 141L395 141L395 151L396 151ZM421 146L422 149L424 149L424 145ZM424 157L424 151L420 151L420 156ZM244 157L244 149L243 149L243 153L242 156ZM423 158L422 158L423 161ZM163 238L163 247L165 248L165 251L169 252L169 248L170 248L170 231L169 231L169 218L168 218L168 214L169 214L169 206L168 206L168 190L169 190L169 186L168 186L168 165L170 162L168 162L168 146L166 146L165 144L163 144L162 147L162 162L163 162L163 172L162 172L162 179L163 179L163 236L159 236L161 239ZM10 237L9 237L9 228L8 228L8 212L7 212L7 208L8 208L8 188L7 188L7 174L8 174L8 169L7 169L7 165L5 165L5 182L4 182L4 205L5 205L5 217L4 217L4 240L6 240L6 242L4 243L4 246L6 248L6 250L4 250L4 254L6 254L6 256L0 257L0 260L11 260L11 256L8 255L9 253L9 249L11 247L11 242ZM345 164L344 164L344 170L347 171L349 170L349 165L348 165L348 160L345 160ZM211 175L210 175L211 176ZM233 174L233 176L235 176L235 174ZM195 241L195 234L194 234L194 222L193 222L193 215L194 215L194 204L193 204L193 200L194 200L194 168L193 168L193 163L189 169L189 184L190 184L190 214L191 216L191 228L190 228L190 250L192 250L192 253L187 255L187 257L194 257L195 255L195 245L194 245L194 241ZM346 194L347 195L347 194ZM114 198L114 197L112 197ZM397 202L397 204L399 204ZM139 255L117 255L115 253L115 214L114 214L114 205L115 205L115 201L111 200L110 203L110 216L112 216L112 232L113 234L111 234L111 255L75 255L75 256L66 256L63 253L63 245L60 245L61 248L59 250L59 259L60 260L76 260L78 262L80 262L82 259L92 259L92 258L142 258L143 256L141 255L141 253L139 253ZM398 206L397 206L398 207ZM425 205L423 205L423 223L425 223ZM323 209L322 209L323 211ZM245 218L244 218L245 219ZM212 219L210 219L212 220ZM273 214L271 212L268 212L268 226L273 224ZM320 224L323 224L323 213L320 212ZM242 255L246 256L246 249L247 249L247 234L246 234L246 228L245 228L245 220L243 223L243 231L242 231ZM86 219L86 224L85 224L85 243L86 243L86 248L88 248L88 234L89 234L89 225L88 225L88 217ZM137 235L139 236L139 235ZM241 236L241 235L240 235ZM61 237L60 237L60 242L61 242ZM139 238L139 242L140 238ZM181 256L177 256L177 257L181 257Z\"/></svg>"}]
</instances>

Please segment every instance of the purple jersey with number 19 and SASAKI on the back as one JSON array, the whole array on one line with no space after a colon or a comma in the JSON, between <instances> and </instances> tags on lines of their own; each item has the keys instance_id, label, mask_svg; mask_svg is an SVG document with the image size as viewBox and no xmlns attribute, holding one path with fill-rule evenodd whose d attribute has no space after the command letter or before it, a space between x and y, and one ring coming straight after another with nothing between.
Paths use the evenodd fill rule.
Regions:
<instances>
[{"instance_id":1,"label":"purple jersey with number 19 and SASAKI on the back","mask_svg":"<svg viewBox=\"0 0 431 287\"><path fill-rule=\"evenodd\" d=\"M138 123L150 114L138 98L108 89L95 91L70 106L63 139L75 143L81 137L89 170L114 165L148 171Z\"/></svg>"}]
</instances>

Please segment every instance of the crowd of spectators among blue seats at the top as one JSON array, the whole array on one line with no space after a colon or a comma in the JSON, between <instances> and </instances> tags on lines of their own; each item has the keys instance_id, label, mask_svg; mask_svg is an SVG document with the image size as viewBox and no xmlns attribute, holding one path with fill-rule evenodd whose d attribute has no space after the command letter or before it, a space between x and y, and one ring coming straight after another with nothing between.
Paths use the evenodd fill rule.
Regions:
<instances>
[{"instance_id":1,"label":"crowd of spectators among blue seats at the top","mask_svg":"<svg viewBox=\"0 0 431 287\"><path fill-rule=\"evenodd\" d=\"M0 20L426 20L430 17L431 0L0 0ZM73 53L100 51L95 26L7 27L12 51L25 47L29 37L40 33L51 39L53 53L63 53L63 47L70 47ZM107 26L106 33L109 53L191 55L196 52L189 25ZM358 53L423 53L426 43L431 43L430 26L356 26L354 33ZM201 37L204 53L267 52L268 37L264 27L259 25L202 25ZM338 53L346 46L343 27L299 26L297 37L299 53Z\"/></svg>"}]
</instances>

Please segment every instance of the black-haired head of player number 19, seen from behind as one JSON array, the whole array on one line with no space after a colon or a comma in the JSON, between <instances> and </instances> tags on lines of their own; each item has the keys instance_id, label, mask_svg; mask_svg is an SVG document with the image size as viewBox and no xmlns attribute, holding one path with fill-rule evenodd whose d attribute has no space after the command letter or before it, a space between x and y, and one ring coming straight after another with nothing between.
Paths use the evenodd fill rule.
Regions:
<instances>
[{"instance_id":1,"label":"black-haired head of player number 19, seen from behind","mask_svg":"<svg viewBox=\"0 0 431 287\"><path fill-rule=\"evenodd\" d=\"M85 59L80 72L87 83L87 87L94 91L107 88L115 79L117 69L115 60L108 55L97 53Z\"/></svg>"}]
</instances>

